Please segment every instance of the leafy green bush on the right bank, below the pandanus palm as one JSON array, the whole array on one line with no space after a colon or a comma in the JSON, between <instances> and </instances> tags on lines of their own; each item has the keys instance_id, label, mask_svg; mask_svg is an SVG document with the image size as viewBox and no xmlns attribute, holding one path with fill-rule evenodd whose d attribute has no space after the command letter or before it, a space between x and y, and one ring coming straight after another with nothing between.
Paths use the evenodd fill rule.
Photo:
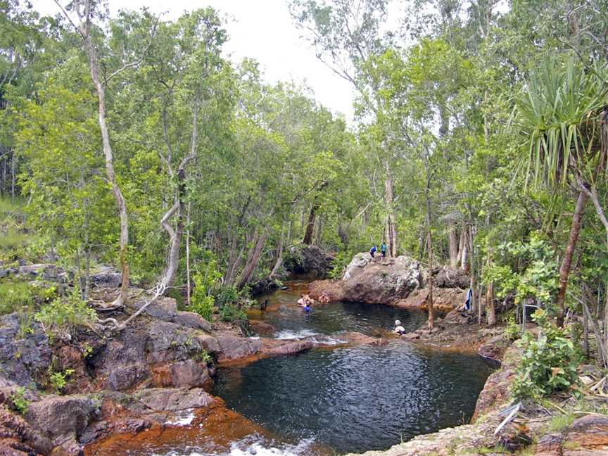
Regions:
<instances>
[{"instance_id":1,"label":"leafy green bush on the right bank, below the pandanus palm","mask_svg":"<svg viewBox=\"0 0 608 456\"><path fill-rule=\"evenodd\" d=\"M536 310L532 319L540 331L537 337L527 332L521 339L524 355L511 393L515 398L538 400L578 384L576 366L580 353L566 338L566 330L552 324L544 310Z\"/></svg>"}]
</instances>

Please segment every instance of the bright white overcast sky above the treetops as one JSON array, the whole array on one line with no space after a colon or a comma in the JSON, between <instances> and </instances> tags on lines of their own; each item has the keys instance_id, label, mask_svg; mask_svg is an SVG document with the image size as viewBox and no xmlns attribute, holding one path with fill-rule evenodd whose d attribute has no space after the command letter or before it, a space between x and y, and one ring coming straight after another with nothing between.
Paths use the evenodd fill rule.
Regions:
<instances>
[{"instance_id":1,"label":"bright white overcast sky above the treetops","mask_svg":"<svg viewBox=\"0 0 608 456\"><path fill-rule=\"evenodd\" d=\"M111 13L118 8L148 6L153 13L166 13L163 18L167 19L175 19L186 10L213 6L227 20L229 42L224 49L232 61L255 58L267 82L305 82L319 103L334 113L343 113L349 123L353 118L350 84L321 63L308 42L300 38L286 0L109 1ZM32 0L32 4L40 13L54 15L59 11L53 0Z\"/></svg>"}]
</instances>

